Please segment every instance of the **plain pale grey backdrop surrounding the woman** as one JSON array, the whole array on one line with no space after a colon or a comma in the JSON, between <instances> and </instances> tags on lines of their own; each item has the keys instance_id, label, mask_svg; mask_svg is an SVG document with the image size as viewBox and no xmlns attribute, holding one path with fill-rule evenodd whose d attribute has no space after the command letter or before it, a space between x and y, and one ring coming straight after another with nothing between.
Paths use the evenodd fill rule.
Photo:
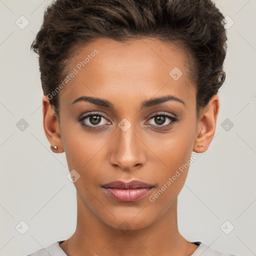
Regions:
<instances>
[{"instance_id":1,"label":"plain pale grey backdrop surrounding the woman","mask_svg":"<svg viewBox=\"0 0 256 256\"><path fill-rule=\"evenodd\" d=\"M50 2L0 0L0 255L5 256L26 255L67 239L76 225L75 188L66 177L64 153L51 152L43 131L38 61L29 49ZM226 80L218 93L215 137L191 164L178 197L178 225L190 241L252 256L256 255L256 0L215 2L229 20ZM28 25L22 27L26 20ZM28 230L21 234L26 225Z\"/></svg>"}]
</instances>

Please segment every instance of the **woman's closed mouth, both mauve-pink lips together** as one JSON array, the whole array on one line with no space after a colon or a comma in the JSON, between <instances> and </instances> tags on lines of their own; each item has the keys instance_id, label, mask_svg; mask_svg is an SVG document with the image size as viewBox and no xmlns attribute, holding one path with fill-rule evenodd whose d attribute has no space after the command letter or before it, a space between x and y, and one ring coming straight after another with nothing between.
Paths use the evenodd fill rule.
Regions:
<instances>
[{"instance_id":1,"label":"woman's closed mouth, both mauve-pink lips together","mask_svg":"<svg viewBox=\"0 0 256 256\"><path fill-rule=\"evenodd\" d=\"M153 185L139 180L130 182L116 180L102 185L102 188L111 198L127 202L143 198L152 190Z\"/></svg>"}]
</instances>

